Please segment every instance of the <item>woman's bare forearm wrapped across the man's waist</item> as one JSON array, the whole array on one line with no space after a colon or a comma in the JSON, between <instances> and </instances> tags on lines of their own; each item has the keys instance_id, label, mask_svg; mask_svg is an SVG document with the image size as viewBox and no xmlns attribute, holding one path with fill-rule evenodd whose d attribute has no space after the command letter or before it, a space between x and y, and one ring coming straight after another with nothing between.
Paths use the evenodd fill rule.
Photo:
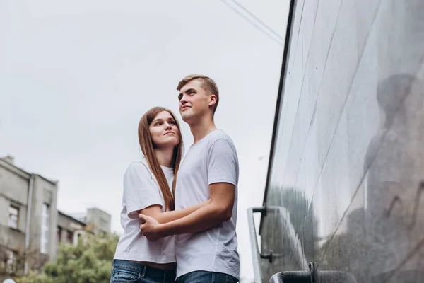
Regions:
<instances>
[{"instance_id":1,"label":"woman's bare forearm wrapped across the man's waist","mask_svg":"<svg viewBox=\"0 0 424 283\"><path fill-rule=\"evenodd\" d=\"M183 218L189 214L192 214L197 209L204 207L206 204L210 204L211 199L201 202L199 204L194 204L191 207L186 207L183 209L172 210L170 212L162 212L160 205L155 204L150 207L146 207L145 209L139 210L139 214L144 214L153 217L160 224L167 223L170 221L174 221L180 218Z\"/></svg>"}]
</instances>

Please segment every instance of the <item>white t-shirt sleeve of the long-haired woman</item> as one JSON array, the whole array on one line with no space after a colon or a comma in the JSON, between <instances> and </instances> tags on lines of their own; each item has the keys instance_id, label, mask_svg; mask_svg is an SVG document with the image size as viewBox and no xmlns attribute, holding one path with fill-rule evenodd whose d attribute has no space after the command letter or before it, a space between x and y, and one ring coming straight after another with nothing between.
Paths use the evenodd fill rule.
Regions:
<instances>
[{"instance_id":1,"label":"white t-shirt sleeve of the long-haired woman","mask_svg":"<svg viewBox=\"0 0 424 283\"><path fill-rule=\"evenodd\" d=\"M129 218L137 219L138 210L158 204L162 207L158 185L143 163L131 163L124 175L124 200Z\"/></svg>"}]
</instances>

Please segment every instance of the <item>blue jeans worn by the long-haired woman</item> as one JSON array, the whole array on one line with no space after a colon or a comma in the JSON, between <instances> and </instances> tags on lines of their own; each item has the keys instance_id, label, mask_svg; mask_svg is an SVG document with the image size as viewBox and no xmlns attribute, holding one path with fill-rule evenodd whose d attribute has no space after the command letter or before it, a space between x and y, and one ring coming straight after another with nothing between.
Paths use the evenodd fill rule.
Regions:
<instances>
[{"instance_id":1,"label":"blue jeans worn by the long-haired woman","mask_svg":"<svg viewBox=\"0 0 424 283\"><path fill-rule=\"evenodd\" d=\"M174 283L175 270L141 265L129 260L113 260L110 283Z\"/></svg>"}]
</instances>

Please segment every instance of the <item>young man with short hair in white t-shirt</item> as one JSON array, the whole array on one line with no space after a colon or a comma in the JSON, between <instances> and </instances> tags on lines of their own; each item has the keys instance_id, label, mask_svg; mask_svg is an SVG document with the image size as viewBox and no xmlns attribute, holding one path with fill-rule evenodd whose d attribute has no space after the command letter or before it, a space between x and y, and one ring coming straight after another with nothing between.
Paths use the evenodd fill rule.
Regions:
<instances>
[{"instance_id":1,"label":"young man with short hair in white t-shirt","mask_svg":"<svg viewBox=\"0 0 424 283\"><path fill-rule=\"evenodd\" d=\"M150 239L175 236L177 282L237 282L238 158L232 140L213 122L219 101L216 83L189 75L178 83L179 112L189 124L194 143L179 167L175 209L211 199L181 219L159 224L140 214L141 231Z\"/></svg>"}]
</instances>

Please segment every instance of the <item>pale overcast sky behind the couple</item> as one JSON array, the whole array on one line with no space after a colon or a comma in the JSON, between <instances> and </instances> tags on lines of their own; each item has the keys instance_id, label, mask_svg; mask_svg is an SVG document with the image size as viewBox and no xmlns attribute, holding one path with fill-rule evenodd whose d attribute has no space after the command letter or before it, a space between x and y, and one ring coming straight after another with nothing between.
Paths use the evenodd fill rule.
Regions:
<instances>
[{"instance_id":1,"label":"pale overcast sky behind the couple","mask_svg":"<svg viewBox=\"0 0 424 283\"><path fill-rule=\"evenodd\" d=\"M284 35L288 1L239 3ZM0 0L0 156L59 180L61 211L98 207L122 233L122 176L141 156L141 115L157 105L178 113L178 81L211 76L216 125L237 146L241 273L252 278L246 209L263 199L282 54L218 0ZM188 149L184 122L182 131Z\"/></svg>"}]
</instances>

